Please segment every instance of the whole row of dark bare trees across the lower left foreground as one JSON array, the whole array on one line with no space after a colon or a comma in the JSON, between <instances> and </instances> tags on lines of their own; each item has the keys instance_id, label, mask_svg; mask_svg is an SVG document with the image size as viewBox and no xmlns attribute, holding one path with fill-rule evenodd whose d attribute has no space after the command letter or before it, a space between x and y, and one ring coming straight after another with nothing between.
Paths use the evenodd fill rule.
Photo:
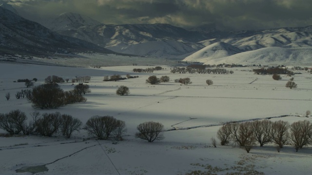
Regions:
<instances>
[{"instance_id":1,"label":"whole row of dark bare trees across the lower left foreground","mask_svg":"<svg viewBox=\"0 0 312 175\"><path fill-rule=\"evenodd\" d=\"M23 135L35 134L51 137L62 134L66 138L70 138L74 131L84 129L91 137L101 140L122 140L126 132L125 122L112 116L93 116L83 127L79 119L67 114L61 115L59 112L42 115L39 112L33 112L31 116L33 120L27 123L26 114L20 110L0 114L0 128L11 135L22 133ZM148 142L162 140L164 139L163 127L161 123L156 122L140 123L137 125L138 131L135 136Z\"/></svg>"}]
</instances>

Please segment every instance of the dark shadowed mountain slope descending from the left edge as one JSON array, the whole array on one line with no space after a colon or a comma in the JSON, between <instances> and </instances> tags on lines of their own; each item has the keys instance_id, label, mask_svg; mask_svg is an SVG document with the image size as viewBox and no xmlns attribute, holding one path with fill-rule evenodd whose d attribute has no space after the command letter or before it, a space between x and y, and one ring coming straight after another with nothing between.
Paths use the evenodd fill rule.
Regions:
<instances>
[{"instance_id":1,"label":"dark shadowed mountain slope descending from the left edge","mask_svg":"<svg viewBox=\"0 0 312 175\"><path fill-rule=\"evenodd\" d=\"M0 7L0 54L114 53L77 38L63 36Z\"/></svg>"}]
</instances>

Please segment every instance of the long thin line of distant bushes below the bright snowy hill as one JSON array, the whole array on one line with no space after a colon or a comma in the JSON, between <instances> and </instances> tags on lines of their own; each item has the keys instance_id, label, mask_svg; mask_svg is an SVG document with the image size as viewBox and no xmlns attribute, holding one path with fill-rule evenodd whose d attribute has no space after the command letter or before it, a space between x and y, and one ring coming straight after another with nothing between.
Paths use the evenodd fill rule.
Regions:
<instances>
[{"instance_id":1,"label":"long thin line of distant bushes below the bright snowy hill","mask_svg":"<svg viewBox=\"0 0 312 175\"><path fill-rule=\"evenodd\" d=\"M214 74L233 74L234 71L233 70L226 70L226 69L221 69L221 68L215 68L215 69L206 69L206 66L205 65L191 65L191 66L188 66L186 68L182 67L182 68L179 68L179 67L176 67L176 68L172 68L171 73L214 73Z\"/></svg>"}]
</instances>

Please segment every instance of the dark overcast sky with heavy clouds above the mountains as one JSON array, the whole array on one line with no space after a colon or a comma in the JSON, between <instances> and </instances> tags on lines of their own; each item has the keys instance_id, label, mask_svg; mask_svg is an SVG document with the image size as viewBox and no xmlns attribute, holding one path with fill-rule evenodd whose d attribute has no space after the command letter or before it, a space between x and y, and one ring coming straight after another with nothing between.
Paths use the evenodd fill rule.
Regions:
<instances>
[{"instance_id":1,"label":"dark overcast sky with heavy clouds above the mountains","mask_svg":"<svg viewBox=\"0 0 312 175\"><path fill-rule=\"evenodd\" d=\"M312 0L0 0L39 22L73 12L104 24L167 23L220 30L312 25Z\"/></svg>"}]
</instances>

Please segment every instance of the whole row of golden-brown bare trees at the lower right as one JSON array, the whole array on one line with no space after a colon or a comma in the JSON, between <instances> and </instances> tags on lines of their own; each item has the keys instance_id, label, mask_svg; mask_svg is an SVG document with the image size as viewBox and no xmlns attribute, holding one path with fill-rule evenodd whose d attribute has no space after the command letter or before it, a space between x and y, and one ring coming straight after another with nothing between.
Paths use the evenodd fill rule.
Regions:
<instances>
[{"instance_id":1,"label":"whole row of golden-brown bare trees at the lower right","mask_svg":"<svg viewBox=\"0 0 312 175\"><path fill-rule=\"evenodd\" d=\"M307 120L292 124L269 120L227 123L219 128L217 138L221 145L239 145L247 153L256 142L260 146L274 143L277 145L278 151L284 145L291 144L298 151L303 146L312 144L312 123Z\"/></svg>"}]
</instances>

